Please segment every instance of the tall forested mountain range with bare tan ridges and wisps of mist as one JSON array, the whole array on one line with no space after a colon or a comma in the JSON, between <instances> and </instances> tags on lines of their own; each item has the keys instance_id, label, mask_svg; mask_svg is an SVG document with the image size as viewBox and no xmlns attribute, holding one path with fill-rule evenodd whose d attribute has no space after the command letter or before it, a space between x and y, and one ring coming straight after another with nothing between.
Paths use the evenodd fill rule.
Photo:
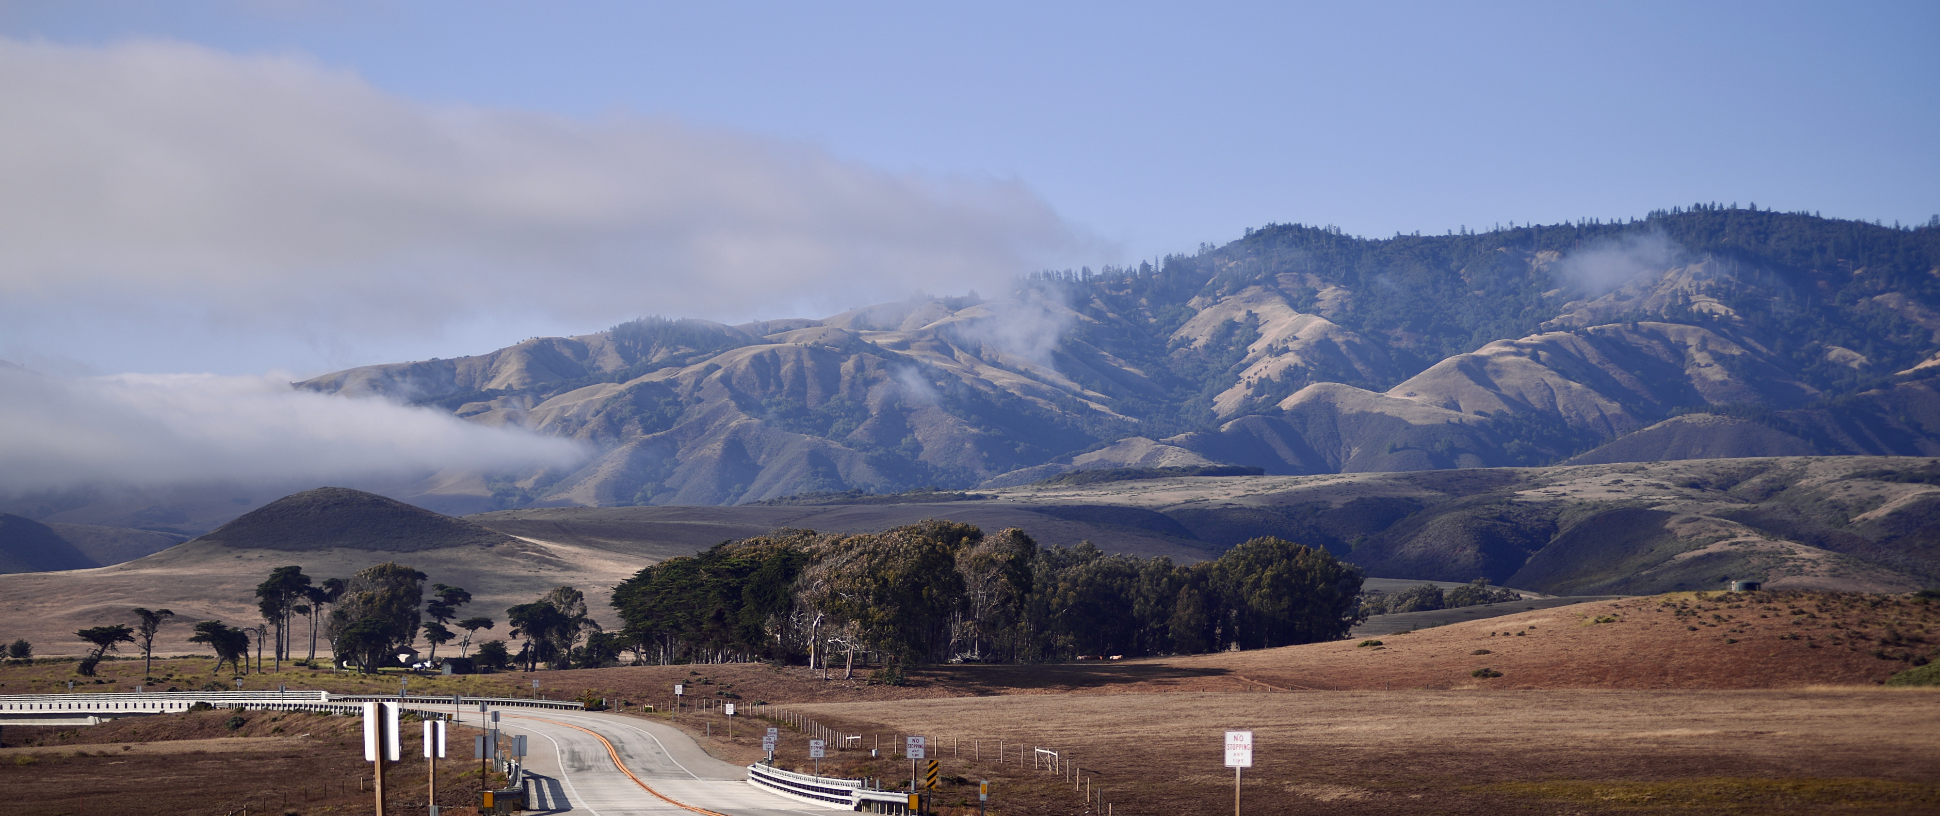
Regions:
<instances>
[{"instance_id":1,"label":"tall forested mountain range with bare tan ridges and wisps of mist","mask_svg":"<svg viewBox=\"0 0 1940 816\"><path fill-rule=\"evenodd\" d=\"M1269 225L1156 267L823 320L646 318L301 388L588 442L442 473L477 510L1267 473L1940 454L1940 225L1736 205L1358 238ZM1707 419L1709 417L1709 419Z\"/></svg>"}]
</instances>

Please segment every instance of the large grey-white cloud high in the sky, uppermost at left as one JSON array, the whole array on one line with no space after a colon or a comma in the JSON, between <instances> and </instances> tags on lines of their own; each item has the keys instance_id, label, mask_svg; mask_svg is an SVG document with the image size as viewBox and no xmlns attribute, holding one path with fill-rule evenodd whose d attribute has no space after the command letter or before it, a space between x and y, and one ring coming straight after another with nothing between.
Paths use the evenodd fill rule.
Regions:
<instances>
[{"instance_id":1,"label":"large grey-white cloud high in the sky, uppermost at left","mask_svg":"<svg viewBox=\"0 0 1940 816\"><path fill-rule=\"evenodd\" d=\"M14 306L324 345L491 314L590 331L826 314L1090 250L1017 180L669 118L425 105L303 56L0 39L0 85Z\"/></svg>"}]
</instances>

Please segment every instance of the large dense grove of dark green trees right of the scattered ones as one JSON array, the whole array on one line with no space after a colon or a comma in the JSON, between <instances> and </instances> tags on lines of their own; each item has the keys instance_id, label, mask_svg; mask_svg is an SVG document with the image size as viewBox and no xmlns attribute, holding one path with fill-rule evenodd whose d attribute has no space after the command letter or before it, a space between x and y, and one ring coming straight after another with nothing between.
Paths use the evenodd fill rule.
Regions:
<instances>
[{"instance_id":1,"label":"large dense grove of dark green trees right of the scattered ones","mask_svg":"<svg viewBox=\"0 0 1940 816\"><path fill-rule=\"evenodd\" d=\"M885 533L776 531L648 566L613 591L601 649L652 663L939 661L1259 649L1344 638L1362 574L1327 550L1253 539L1218 560L1038 547L1018 529L923 521Z\"/></svg>"}]
</instances>

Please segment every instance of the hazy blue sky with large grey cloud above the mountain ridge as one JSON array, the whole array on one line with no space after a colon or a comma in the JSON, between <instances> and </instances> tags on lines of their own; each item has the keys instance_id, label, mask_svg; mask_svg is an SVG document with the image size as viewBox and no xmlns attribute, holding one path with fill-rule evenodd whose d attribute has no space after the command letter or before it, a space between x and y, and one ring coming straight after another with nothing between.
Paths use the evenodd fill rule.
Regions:
<instances>
[{"instance_id":1,"label":"hazy blue sky with large grey cloud above the mountain ridge","mask_svg":"<svg viewBox=\"0 0 1940 816\"><path fill-rule=\"evenodd\" d=\"M466 116L491 120L477 130L491 134L479 157L427 173L421 190L378 178L345 192L334 186L343 173L316 180L287 169L275 190L328 188L303 204L322 221L332 207L382 211L384 196L551 188L547 169L580 178L565 188L594 200L673 192L605 211L400 204L409 215L390 221L398 235L371 238L378 225L318 238L308 256L291 248L310 244L287 221L250 235L291 240L235 254L239 238L219 229L151 235L126 213L93 223L99 200L78 200L68 221L118 248L0 258L14 277L0 277L12 304L0 306L10 326L0 359L66 372L318 372L481 353L634 314L749 320L987 287L1030 267L1191 252L1271 221L1383 236L1713 200L1926 221L1940 213L1936 31L1930 2L8 4L0 37L27 48L10 66L58 109L8 128L41 118L74 128L48 130L33 149L136 122L101 147L114 165L180 153L151 143L211 138L237 141L180 167L221 174L211 165L237 157L260 163L239 178L281 178L275 163L305 161L256 151L250 128L225 126L264 103L210 103L200 118L213 136L114 109L140 109L151 93L128 78L194 64L206 72L196 76L235 81L289 72L285 85L252 93L291 99L301 109L291 120L322 122L307 132L330 130L334 112L363 122L340 140L359 145L343 153L353 169L382 165L369 155L417 155L400 143L466 140ZM128 62L138 43L175 50ZM91 76L81 68L97 62L140 68L103 79L118 91L76 91L87 110L47 101L66 93L50 78ZM320 101L301 107L305 95ZM598 147L574 151L574 140ZM105 165L8 149L37 167ZM501 167L495 155L530 171L516 184L479 180ZM607 165L617 180L601 186ZM58 174L39 182L62 186ZM114 178L91 182L130 198ZM716 182L741 192L720 194L706 217L675 205L716 196ZM178 178L153 184L144 190L155 200L202 200L171 186ZM279 196L242 182L225 190L235 198L221 213L258 213L250 196ZM799 209L778 215L776 200ZM512 238L528 233L539 238ZM210 246L182 250L177 235ZM343 244L365 248L332 254ZM177 250L175 262L146 266ZM442 302L466 279L454 269L473 267L493 269L487 285ZM646 283L584 302L632 277ZM681 287L696 279L745 297ZM347 283L312 291L332 281ZM371 281L409 285L400 295ZM566 281L578 295L541 302L518 281Z\"/></svg>"}]
</instances>

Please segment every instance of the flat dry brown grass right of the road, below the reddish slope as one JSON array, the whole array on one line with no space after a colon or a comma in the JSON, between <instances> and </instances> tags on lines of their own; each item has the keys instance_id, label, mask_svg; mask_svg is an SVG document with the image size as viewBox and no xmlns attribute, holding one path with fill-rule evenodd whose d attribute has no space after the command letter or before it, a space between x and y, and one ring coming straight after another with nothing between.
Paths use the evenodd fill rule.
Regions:
<instances>
[{"instance_id":1,"label":"flat dry brown grass right of the road, below the reddish slope","mask_svg":"<svg viewBox=\"0 0 1940 816\"><path fill-rule=\"evenodd\" d=\"M1178 814L1232 806L1222 731L1253 731L1247 814L1940 810L1940 694L1826 692L1319 692L1011 696L813 704L797 717L877 737L923 733L945 804L997 814ZM780 764L807 768L784 731ZM999 740L1005 762L997 764ZM1034 769L1034 748L1063 771ZM861 752L867 754L867 752ZM854 756L854 754L852 754ZM824 764L906 779L894 758ZM1075 779L1073 779L1075 777ZM1084 787L1090 785L1086 800Z\"/></svg>"}]
</instances>

